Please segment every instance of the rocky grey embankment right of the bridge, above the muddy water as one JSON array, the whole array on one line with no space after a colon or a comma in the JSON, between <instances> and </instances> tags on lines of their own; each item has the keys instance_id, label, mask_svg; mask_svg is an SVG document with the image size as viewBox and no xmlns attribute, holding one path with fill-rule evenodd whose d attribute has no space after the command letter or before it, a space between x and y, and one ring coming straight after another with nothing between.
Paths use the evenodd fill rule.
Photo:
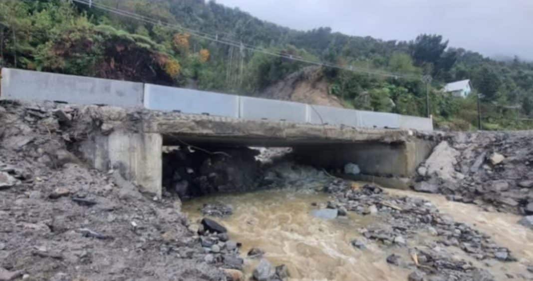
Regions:
<instances>
[{"instance_id":1,"label":"rocky grey embankment right of the bridge, above the muddy water","mask_svg":"<svg viewBox=\"0 0 533 281\"><path fill-rule=\"evenodd\" d=\"M526 215L533 227L533 132L453 133L418 168L417 191L487 211Z\"/></svg>"}]
</instances>

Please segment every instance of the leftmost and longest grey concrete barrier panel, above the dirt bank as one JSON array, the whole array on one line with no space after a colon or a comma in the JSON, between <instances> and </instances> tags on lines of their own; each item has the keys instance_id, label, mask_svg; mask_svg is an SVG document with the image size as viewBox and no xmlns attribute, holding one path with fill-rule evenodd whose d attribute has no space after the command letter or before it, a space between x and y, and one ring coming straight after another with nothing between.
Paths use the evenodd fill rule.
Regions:
<instances>
[{"instance_id":1,"label":"leftmost and longest grey concrete barrier panel, above the dirt bank","mask_svg":"<svg viewBox=\"0 0 533 281\"><path fill-rule=\"evenodd\" d=\"M142 107L142 83L2 69L2 99Z\"/></svg>"}]
</instances>

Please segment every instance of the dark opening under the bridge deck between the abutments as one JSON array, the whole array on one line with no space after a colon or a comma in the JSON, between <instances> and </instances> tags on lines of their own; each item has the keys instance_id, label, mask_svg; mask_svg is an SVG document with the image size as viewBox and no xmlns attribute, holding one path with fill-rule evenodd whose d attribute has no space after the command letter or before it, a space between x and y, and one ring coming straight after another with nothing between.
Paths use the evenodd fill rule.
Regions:
<instances>
[{"instance_id":1,"label":"dark opening under the bridge deck between the abutments","mask_svg":"<svg viewBox=\"0 0 533 281\"><path fill-rule=\"evenodd\" d=\"M262 189L272 183L269 168L279 162L290 163L284 167L288 169L306 165L328 175L408 188L415 167L433 147L427 141L280 144L264 139L163 135L163 192L190 199ZM263 147L253 147L257 145ZM346 171L347 165L357 165L358 171Z\"/></svg>"}]
</instances>

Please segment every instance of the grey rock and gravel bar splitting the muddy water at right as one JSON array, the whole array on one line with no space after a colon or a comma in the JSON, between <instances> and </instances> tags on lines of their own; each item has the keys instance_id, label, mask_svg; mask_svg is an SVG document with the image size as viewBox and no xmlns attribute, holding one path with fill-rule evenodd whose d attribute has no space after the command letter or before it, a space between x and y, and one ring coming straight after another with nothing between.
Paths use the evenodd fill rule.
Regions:
<instances>
[{"instance_id":1,"label":"grey rock and gravel bar splitting the muddy water at right","mask_svg":"<svg viewBox=\"0 0 533 281\"><path fill-rule=\"evenodd\" d=\"M387 258L387 262L406 268L418 268L417 273L413 274L413 280L416 280L416 276L426 278L426 275L433 278L453 276L462 280L472 278L479 272L486 274L471 262L456 260L446 250L448 246L461 248L478 260L516 261L507 248L500 247L489 236L467 224L455 222L450 216L441 214L427 200L389 195L372 184L362 187L350 187L349 184L343 186L344 190L329 189L334 190L333 195L337 200L328 205L344 206L346 210L360 215L373 215L379 221L369 229L361 229L364 238L354 239L352 245L364 251L367 247L366 239L381 247L409 251L416 258L402 261L402 255L393 254ZM416 245L420 231L434 237L432 242Z\"/></svg>"}]
</instances>

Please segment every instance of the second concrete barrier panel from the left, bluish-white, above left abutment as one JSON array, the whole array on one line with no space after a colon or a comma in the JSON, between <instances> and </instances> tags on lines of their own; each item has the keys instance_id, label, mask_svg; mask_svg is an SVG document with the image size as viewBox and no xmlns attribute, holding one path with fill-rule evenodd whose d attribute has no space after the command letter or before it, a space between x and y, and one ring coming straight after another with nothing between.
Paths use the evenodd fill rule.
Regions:
<instances>
[{"instance_id":1,"label":"second concrete barrier panel from the left, bluish-white, above left abutment","mask_svg":"<svg viewBox=\"0 0 533 281\"><path fill-rule=\"evenodd\" d=\"M144 84L144 107L182 113L239 117L239 97L191 89Z\"/></svg>"}]
</instances>

